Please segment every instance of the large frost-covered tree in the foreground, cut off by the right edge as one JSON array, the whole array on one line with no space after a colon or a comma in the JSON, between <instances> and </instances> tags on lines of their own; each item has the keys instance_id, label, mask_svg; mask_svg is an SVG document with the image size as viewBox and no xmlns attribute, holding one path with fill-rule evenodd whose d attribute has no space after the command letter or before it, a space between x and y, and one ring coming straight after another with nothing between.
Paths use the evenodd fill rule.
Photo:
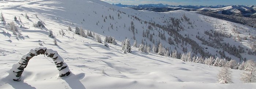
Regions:
<instances>
[{"instance_id":1,"label":"large frost-covered tree in the foreground, cut off by the right edge","mask_svg":"<svg viewBox=\"0 0 256 89\"><path fill-rule=\"evenodd\" d=\"M256 64L253 60L245 62L244 72L241 73L241 81L244 83L256 82Z\"/></svg>"}]
</instances>

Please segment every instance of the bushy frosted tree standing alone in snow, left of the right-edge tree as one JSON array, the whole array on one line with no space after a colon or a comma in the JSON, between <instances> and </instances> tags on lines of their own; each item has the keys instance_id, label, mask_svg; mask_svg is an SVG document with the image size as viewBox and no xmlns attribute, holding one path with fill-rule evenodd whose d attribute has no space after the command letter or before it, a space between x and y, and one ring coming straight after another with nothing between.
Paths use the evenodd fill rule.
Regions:
<instances>
[{"instance_id":1,"label":"bushy frosted tree standing alone in snow, left of the right-edge tree","mask_svg":"<svg viewBox=\"0 0 256 89\"><path fill-rule=\"evenodd\" d=\"M222 84L231 84L232 81L232 75L231 75L230 68L222 67L222 69L218 73L218 82Z\"/></svg>"}]
</instances>

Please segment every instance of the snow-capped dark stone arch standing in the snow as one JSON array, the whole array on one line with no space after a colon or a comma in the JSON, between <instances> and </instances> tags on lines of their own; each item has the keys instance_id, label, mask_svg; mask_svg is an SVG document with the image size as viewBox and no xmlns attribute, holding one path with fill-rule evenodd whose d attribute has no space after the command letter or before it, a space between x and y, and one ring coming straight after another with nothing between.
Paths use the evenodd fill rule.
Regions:
<instances>
[{"instance_id":1,"label":"snow-capped dark stone arch standing in the snow","mask_svg":"<svg viewBox=\"0 0 256 89\"><path fill-rule=\"evenodd\" d=\"M39 54L44 54L53 59L54 64L56 64L57 69L59 70L59 77L68 76L71 73L68 65L64 62L63 58L60 57L57 51L39 47L31 49L30 52L22 56L22 58L16 64L12 65L12 69L9 71L9 76L12 77L14 81L20 81L22 72L26 68L29 60Z\"/></svg>"}]
</instances>

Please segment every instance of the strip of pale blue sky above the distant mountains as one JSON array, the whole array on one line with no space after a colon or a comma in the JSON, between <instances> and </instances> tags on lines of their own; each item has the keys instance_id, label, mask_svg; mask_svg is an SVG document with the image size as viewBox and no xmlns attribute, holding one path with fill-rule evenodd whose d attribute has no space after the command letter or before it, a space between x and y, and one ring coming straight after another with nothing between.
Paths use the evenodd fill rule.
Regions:
<instances>
[{"instance_id":1,"label":"strip of pale blue sky above the distant mountains","mask_svg":"<svg viewBox=\"0 0 256 89\"><path fill-rule=\"evenodd\" d=\"M101 0L126 5L168 4L168 5L256 5L256 0Z\"/></svg>"}]
</instances>

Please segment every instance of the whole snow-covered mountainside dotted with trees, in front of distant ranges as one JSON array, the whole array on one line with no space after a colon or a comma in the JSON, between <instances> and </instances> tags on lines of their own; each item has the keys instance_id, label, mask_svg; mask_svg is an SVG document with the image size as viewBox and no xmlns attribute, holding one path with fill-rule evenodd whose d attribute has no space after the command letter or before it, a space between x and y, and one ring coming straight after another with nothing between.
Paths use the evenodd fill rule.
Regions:
<instances>
[{"instance_id":1,"label":"whole snow-covered mountainside dotted with trees, in front of distant ranges","mask_svg":"<svg viewBox=\"0 0 256 89\"><path fill-rule=\"evenodd\" d=\"M256 28L100 0L1 0L0 11L1 89L256 88Z\"/></svg>"}]
</instances>

